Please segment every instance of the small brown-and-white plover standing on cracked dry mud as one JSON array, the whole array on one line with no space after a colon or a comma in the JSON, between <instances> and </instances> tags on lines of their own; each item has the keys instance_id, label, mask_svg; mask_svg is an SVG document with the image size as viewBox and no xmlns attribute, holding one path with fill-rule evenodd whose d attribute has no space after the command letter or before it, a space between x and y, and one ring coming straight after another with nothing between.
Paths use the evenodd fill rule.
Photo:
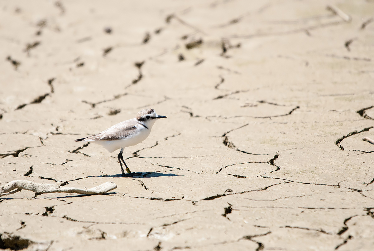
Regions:
<instances>
[{"instance_id":1,"label":"small brown-and-white plover standing on cracked dry mud","mask_svg":"<svg viewBox=\"0 0 374 251\"><path fill-rule=\"evenodd\" d=\"M104 146L109 152L114 152L121 148L118 154L118 161L121 166L122 175L125 174L122 168L122 163L125 164L126 171L131 173L123 160L123 148L136 145L145 140L153 124L159 118L166 118L166 116L157 115L153 109L144 109L137 113L135 118L131 120L122 121L101 133L76 139L75 141L87 141Z\"/></svg>"}]
</instances>

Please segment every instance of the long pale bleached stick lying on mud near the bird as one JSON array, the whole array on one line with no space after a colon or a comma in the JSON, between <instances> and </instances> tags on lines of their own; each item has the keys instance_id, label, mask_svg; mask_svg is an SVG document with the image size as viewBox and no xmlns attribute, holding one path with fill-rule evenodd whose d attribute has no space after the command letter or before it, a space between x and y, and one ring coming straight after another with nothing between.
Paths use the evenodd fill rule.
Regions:
<instances>
[{"instance_id":1,"label":"long pale bleached stick lying on mud near the bird","mask_svg":"<svg viewBox=\"0 0 374 251\"><path fill-rule=\"evenodd\" d=\"M108 191L117 188L113 182L105 182L97 187L92 188L76 188L76 187L60 187L58 184L42 184L22 179L10 181L0 187L0 197L8 194L16 193L22 189L33 191L36 194L43 193L79 193L79 194L105 194ZM15 191L12 191L17 189Z\"/></svg>"}]
</instances>

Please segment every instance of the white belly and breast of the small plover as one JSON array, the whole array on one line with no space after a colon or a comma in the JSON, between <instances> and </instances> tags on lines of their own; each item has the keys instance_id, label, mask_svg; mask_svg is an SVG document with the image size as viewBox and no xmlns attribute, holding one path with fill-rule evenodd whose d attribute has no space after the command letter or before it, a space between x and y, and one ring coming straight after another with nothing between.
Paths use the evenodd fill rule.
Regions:
<instances>
[{"instance_id":1,"label":"white belly and breast of the small plover","mask_svg":"<svg viewBox=\"0 0 374 251\"><path fill-rule=\"evenodd\" d=\"M99 144L101 146L104 146L105 149L107 149L109 152L114 152L117 149L125 148L128 146L136 145L143 140L145 140L151 130L145 129L139 131L139 133L134 134L131 137L126 137L125 139L119 139L119 140L92 140L89 142Z\"/></svg>"}]
</instances>

